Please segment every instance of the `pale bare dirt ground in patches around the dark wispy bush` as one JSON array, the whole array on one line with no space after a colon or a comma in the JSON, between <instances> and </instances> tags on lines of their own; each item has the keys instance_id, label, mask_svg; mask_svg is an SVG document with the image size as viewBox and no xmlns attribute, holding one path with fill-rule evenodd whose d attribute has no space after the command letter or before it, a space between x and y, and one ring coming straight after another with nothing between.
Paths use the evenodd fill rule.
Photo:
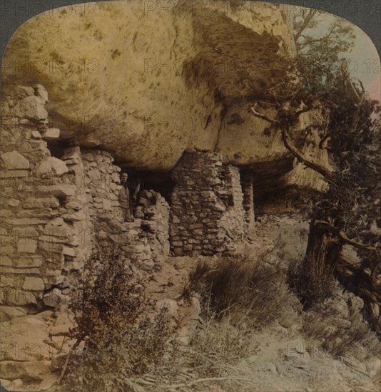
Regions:
<instances>
[{"instance_id":1,"label":"pale bare dirt ground in patches around the dark wispy bush","mask_svg":"<svg viewBox=\"0 0 381 392\"><path fill-rule=\"evenodd\" d=\"M300 216L264 216L257 222L250 241L235 251L267 253L267 262L283 263L286 268L290 261L303 257L307 239L308 221ZM171 257L151 281L150 292L159 303L173 306L177 302L176 309L172 311L175 318L182 318L183 322L179 324L183 325L191 322L192 312L197 313L194 307L181 306L181 300L178 301L194 265L195 259ZM201 321L193 319L194 322L197 324ZM230 319L225 321L225 326L223 324L215 327L211 333L223 334L226 328L233 331L234 321ZM302 326L302 316L290 314L289 319L275 321L260 331L243 332L241 329L234 339L243 337L240 334L247 335L245 339L249 354L237 361L220 363L216 356L215 366L220 366L220 376L195 378L194 369L186 365L181 367L178 363L174 368L153 370L136 381L143 390L149 391L381 391L379 357L364 354L360 348L359 355L358 350L349 350L347 356L335 359L320 348L319 341L304 336ZM189 339L180 337L179 340L189 344ZM195 351L202 355L203 348L197 347Z\"/></svg>"}]
</instances>

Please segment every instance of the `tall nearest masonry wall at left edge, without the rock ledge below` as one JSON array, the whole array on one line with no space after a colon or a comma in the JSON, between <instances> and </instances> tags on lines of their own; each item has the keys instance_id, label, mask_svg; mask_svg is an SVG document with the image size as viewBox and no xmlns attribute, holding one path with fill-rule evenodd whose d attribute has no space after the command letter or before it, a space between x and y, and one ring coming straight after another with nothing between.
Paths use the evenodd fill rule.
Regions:
<instances>
[{"instance_id":1,"label":"tall nearest masonry wall at left edge, without the rock ledge below","mask_svg":"<svg viewBox=\"0 0 381 392\"><path fill-rule=\"evenodd\" d=\"M86 258L81 236L88 225L71 170L52 157L42 86L16 86L4 97L1 127L2 305L56 306L68 274ZM24 309L27 310L27 309ZM5 311L5 313L4 313ZM2 317L6 318L3 308Z\"/></svg>"}]
</instances>

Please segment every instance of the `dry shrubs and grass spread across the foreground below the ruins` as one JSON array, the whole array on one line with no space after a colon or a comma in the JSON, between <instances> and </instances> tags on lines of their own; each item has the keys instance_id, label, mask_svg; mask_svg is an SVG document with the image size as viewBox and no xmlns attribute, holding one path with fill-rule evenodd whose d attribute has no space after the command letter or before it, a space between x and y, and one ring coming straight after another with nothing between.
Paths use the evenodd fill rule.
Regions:
<instances>
[{"instance_id":1,"label":"dry shrubs and grass spread across the foreground below the ruins","mask_svg":"<svg viewBox=\"0 0 381 392\"><path fill-rule=\"evenodd\" d=\"M302 314L285 283L285 266L270 259L272 252L204 258L196 264L182 299L198 296L201 304L188 344L168 330L165 310L155 319L142 319L147 311L143 296L117 255L94 259L92 270L99 268L103 274L89 279L78 315L86 350L73 356L60 391L250 390L255 373L240 364L260 357L262 348L253 336L273 321L285 328L302 325L309 344L335 357L360 358L355 348L360 354L367 350L368 356L380 354L377 339L358 312L340 320L347 327L335 324L336 299Z\"/></svg>"}]
</instances>

